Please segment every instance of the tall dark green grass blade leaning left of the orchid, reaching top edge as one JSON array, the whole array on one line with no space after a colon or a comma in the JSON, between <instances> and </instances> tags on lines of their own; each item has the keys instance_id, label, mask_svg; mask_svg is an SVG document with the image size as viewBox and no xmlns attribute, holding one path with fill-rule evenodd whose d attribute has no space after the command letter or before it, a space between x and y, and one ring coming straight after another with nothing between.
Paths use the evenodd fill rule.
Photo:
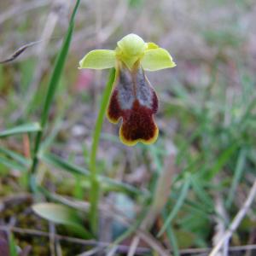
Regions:
<instances>
[{"instance_id":1,"label":"tall dark green grass blade leaning left of the orchid, reaching top edge","mask_svg":"<svg viewBox=\"0 0 256 256\"><path fill-rule=\"evenodd\" d=\"M49 109L53 102L56 88L61 79L61 73L63 71L64 64L67 60L67 53L68 53L69 45L73 35L74 18L77 13L77 10L79 9L79 3L80 3L80 0L77 0L76 5L73 9L73 14L69 22L66 37L64 38L64 41L61 46L61 50L56 58L55 67L53 69L53 73L49 80L48 90L47 90L45 101L44 101L43 113L40 121L41 130L38 131L37 133L36 140L35 140L35 148L33 149L32 168L30 172L30 189L32 189L32 191L36 190L36 183L34 179L35 179L35 173L37 171L37 166L38 166L38 151L39 151L42 137L45 131L45 127L47 125L47 121L49 117Z\"/></svg>"}]
</instances>

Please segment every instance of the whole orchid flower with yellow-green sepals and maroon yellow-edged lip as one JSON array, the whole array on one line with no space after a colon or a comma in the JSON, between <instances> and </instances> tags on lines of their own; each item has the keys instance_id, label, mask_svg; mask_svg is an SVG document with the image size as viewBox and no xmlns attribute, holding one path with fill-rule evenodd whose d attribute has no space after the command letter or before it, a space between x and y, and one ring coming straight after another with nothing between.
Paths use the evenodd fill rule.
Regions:
<instances>
[{"instance_id":1,"label":"whole orchid flower with yellow-green sepals and maroon yellow-edged lip","mask_svg":"<svg viewBox=\"0 0 256 256\"><path fill-rule=\"evenodd\" d=\"M175 66L166 49L145 43L136 34L122 38L114 50L91 50L79 62L79 68L115 67L107 117L114 124L122 119L119 138L128 146L138 142L154 143L159 133L153 117L158 110L158 98L144 70L156 71Z\"/></svg>"}]
</instances>

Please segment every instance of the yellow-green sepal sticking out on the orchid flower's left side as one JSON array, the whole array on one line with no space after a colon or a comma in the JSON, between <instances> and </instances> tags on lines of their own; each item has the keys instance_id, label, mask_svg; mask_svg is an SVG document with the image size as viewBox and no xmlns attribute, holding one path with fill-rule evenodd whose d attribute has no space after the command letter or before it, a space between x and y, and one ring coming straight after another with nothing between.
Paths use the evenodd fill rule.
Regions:
<instances>
[{"instance_id":1,"label":"yellow-green sepal sticking out on the orchid flower's left side","mask_svg":"<svg viewBox=\"0 0 256 256\"><path fill-rule=\"evenodd\" d=\"M79 61L79 68L105 69L114 65L115 51L110 49L91 50Z\"/></svg>"}]
</instances>

